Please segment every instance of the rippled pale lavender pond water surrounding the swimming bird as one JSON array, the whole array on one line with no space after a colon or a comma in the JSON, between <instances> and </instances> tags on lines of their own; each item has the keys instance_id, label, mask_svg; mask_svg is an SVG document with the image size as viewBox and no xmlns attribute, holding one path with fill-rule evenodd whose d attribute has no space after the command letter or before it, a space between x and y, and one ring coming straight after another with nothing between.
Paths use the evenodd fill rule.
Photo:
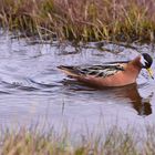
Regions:
<instances>
[{"instance_id":1,"label":"rippled pale lavender pond water surrounding the swimming bird","mask_svg":"<svg viewBox=\"0 0 155 155\"><path fill-rule=\"evenodd\" d=\"M101 121L110 126L116 122L121 127L155 122L155 81L145 71L137 84L95 90L68 79L56 69L61 64L130 60L137 51L148 52L154 59L152 45L108 43L101 50L97 43L75 48L70 42L43 44L12 38L0 32L1 125L48 123L59 130L61 124L68 124L72 131L81 132L83 126L92 128Z\"/></svg>"}]
</instances>

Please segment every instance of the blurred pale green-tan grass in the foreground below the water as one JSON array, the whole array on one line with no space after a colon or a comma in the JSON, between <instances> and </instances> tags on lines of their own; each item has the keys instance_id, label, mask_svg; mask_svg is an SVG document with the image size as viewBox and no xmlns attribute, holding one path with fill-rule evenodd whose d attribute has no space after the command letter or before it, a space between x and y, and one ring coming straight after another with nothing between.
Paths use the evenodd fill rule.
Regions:
<instances>
[{"instance_id":1,"label":"blurred pale green-tan grass in the foreground below the water","mask_svg":"<svg viewBox=\"0 0 155 155\"><path fill-rule=\"evenodd\" d=\"M105 131L103 128L103 131ZM123 132L113 126L105 134L87 134L74 144L69 132L55 134L37 130L1 131L0 154L2 155L153 155L155 154L154 125L146 133L128 130ZM106 136L105 136L106 135ZM145 137L144 137L145 135ZM73 136L75 138L75 136Z\"/></svg>"}]
</instances>

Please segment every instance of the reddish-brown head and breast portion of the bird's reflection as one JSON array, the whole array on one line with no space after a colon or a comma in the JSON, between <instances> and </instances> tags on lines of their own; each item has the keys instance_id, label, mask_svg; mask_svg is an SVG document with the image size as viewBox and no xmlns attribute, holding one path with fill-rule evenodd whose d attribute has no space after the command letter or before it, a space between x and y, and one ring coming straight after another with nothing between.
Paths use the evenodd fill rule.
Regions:
<instances>
[{"instance_id":1,"label":"reddish-brown head and breast portion of the bird's reflection","mask_svg":"<svg viewBox=\"0 0 155 155\"><path fill-rule=\"evenodd\" d=\"M138 91L136 84L131 84L123 87L114 89L116 95L121 95L122 97L127 97L131 100L133 107L137 111L138 115L149 115L152 114L152 106L149 100L152 96L147 99L143 99Z\"/></svg>"}]
</instances>

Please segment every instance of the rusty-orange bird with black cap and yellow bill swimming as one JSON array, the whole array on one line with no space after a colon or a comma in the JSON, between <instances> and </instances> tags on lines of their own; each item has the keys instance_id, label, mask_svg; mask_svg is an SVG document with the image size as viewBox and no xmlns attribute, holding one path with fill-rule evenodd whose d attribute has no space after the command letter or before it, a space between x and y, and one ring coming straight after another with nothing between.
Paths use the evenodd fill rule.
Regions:
<instances>
[{"instance_id":1,"label":"rusty-orange bird with black cap and yellow bill swimming","mask_svg":"<svg viewBox=\"0 0 155 155\"><path fill-rule=\"evenodd\" d=\"M153 59L148 53L138 54L131 61L106 62L102 65L59 65L69 78L97 87L125 86L136 83L142 69L146 69L148 75L154 79L151 69Z\"/></svg>"}]
</instances>

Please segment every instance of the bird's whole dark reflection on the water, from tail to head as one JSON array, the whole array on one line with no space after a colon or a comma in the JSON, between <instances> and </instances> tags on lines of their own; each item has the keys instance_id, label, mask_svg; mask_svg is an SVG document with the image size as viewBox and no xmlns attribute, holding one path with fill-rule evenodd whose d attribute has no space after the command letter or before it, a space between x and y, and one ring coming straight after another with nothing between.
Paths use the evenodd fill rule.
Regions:
<instances>
[{"instance_id":1,"label":"bird's whole dark reflection on the water, from tail to head","mask_svg":"<svg viewBox=\"0 0 155 155\"><path fill-rule=\"evenodd\" d=\"M65 80L63 81L63 84L68 85L70 90L73 90L73 91L89 91L89 92L96 91L96 90L99 91L99 87L92 87L92 85L89 87L87 85L86 86L83 85L83 83L79 83L72 80L71 81ZM141 116L146 116L146 115L152 114L151 96L148 96L147 99L143 99L138 93L137 84L131 84L131 85L122 86L122 87L105 87L102 90L100 87L100 92L102 92L102 94L106 93L110 96L116 96L120 100L121 99L130 100L127 102L132 104L134 110L136 110L137 114ZM97 97L100 99L101 96L97 96Z\"/></svg>"}]
</instances>

